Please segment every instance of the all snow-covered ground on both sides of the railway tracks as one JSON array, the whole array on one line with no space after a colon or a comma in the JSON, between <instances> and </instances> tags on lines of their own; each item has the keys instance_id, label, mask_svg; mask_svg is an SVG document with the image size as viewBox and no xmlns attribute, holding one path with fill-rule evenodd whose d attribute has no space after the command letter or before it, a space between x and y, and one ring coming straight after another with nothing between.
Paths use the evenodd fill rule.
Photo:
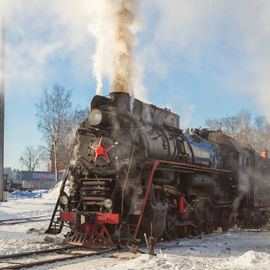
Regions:
<instances>
[{"instance_id":1,"label":"all snow-covered ground on both sides of the railway tracks","mask_svg":"<svg viewBox=\"0 0 270 270\"><path fill-rule=\"evenodd\" d=\"M59 187L55 190L9 194L0 204L0 220L51 215ZM63 236L44 234L49 221L0 225L0 255L47 249L61 243ZM50 241L53 240L53 241ZM146 250L145 250L146 251ZM156 256L119 252L59 263L35 269L270 269L270 231L217 232L193 239L160 243ZM1 264L0 264L1 269Z\"/></svg>"}]
</instances>

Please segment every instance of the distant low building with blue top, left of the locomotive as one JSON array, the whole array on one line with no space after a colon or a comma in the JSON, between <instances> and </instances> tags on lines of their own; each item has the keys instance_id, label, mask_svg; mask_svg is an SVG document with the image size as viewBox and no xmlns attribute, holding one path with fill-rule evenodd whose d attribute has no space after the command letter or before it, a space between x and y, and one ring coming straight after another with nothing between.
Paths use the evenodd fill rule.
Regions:
<instances>
[{"instance_id":1,"label":"distant low building with blue top, left of the locomotive","mask_svg":"<svg viewBox=\"0 0 270 270\"><path fill-rule=\"evenodd\" d=\"M52 172L21 171L23 188L50 189L55 185L55 174Z\"/></svg>"}]
</instances>

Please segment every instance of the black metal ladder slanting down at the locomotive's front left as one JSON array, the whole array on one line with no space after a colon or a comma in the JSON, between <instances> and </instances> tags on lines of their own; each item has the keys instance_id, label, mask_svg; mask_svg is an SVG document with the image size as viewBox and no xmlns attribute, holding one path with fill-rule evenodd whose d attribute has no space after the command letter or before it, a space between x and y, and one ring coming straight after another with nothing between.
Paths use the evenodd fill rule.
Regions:
<instances>
[{"instance_id":1,"label":"black metal ladder slanting down at the locomotive's front left","mask_svg":"<svg viewBox=\"0 0 270 270\"><path fill-rule=\"evenodd\" d=\"M60 197L61 197L61 194L64 191L65 186L66 186L68 171L69 171L69 168L66 170L66 173L65 173L65 176L64 176L61 188L60 188L59 196L58 196L56 205L55 205L54 210L53 210L53 214L51 217L49 227L45 231L46 234L59 234L62 231L64 222L60 221L60 213L61 213ZM56 216L56 213L58 213L58 216Z\"/></svg>"}]
</instances>

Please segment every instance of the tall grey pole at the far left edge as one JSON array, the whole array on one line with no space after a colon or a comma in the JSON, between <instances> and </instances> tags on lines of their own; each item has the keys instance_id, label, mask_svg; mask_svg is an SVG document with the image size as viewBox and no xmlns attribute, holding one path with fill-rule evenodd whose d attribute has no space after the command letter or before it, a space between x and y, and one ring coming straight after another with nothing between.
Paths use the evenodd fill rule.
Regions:
<instances>
[{"instance_id":1,"label":"tall grey pole at the far left edge","mask_svg":"<svg viewBox=\"0 0 270 270\"><path fill-rule=\"evenodd\" d=\"M5 15L1 18L1 69L0 69L0 202L3 201L4 187L4 117L5 117Z\"/></svg>"}]
</instances>

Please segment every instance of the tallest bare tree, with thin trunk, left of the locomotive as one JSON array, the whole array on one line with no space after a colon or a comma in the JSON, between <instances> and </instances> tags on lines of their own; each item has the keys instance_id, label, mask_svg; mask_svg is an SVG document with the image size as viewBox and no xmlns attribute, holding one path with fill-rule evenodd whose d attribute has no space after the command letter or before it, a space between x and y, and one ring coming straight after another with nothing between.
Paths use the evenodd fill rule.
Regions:
<instances>
[{"instance_id":1,"label":"tallest bare tree, with thin trunk, left of the locomotive","mask_svg":"<svg viewBox=\"0 0 270 270\"><path fill-rule=\"evenodd\" d=\"M58 182L58 147L72 129L71 93L55 84L51 93L47 89L36 104L38 129L49 145L53 145L55 181Z\"/></svg>"}]
</instances>

